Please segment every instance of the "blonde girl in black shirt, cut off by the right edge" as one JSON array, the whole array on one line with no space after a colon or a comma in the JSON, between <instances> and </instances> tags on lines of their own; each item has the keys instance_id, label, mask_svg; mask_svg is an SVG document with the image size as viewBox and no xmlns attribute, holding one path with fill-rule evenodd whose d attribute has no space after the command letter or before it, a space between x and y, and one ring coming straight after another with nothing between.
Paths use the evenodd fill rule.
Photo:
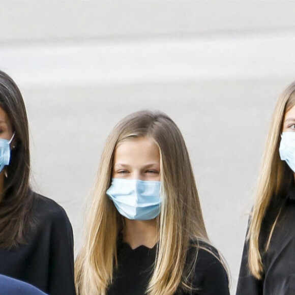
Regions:
<instances>
[{"instance_id":1,"label":"blonde girl in black shirt, cut off by the right edge","mask_svg":"<svg viewBox=\"0 0 295 295\"><path fill-rule=\"evenodd\" d=\"M295 82L274 110L237 295L295 294Z\"/></svg>"}]
</instances>

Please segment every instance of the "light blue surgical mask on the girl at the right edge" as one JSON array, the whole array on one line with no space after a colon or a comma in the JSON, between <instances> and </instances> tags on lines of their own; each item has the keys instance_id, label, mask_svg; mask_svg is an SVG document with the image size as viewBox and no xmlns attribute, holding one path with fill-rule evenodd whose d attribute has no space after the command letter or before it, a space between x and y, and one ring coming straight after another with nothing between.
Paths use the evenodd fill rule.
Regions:
<instances>
[{"instance_id":1,"label":"light blue surgical mask on the girl at the right edge","mask_svg":"<svg viewBox=\"0 0 295 295\"><path fill-rule=\"evenodd\" d=\"M283 132L279 147L281 160L295 172L295 132Z\"/></svg>"}]
</instances>

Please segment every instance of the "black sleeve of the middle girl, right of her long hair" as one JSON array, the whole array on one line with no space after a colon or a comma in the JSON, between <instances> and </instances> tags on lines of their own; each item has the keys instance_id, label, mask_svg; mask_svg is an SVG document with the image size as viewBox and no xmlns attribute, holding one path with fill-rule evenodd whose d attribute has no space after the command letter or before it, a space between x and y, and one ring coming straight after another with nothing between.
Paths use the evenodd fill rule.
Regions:
<instances>
[{"instance_id":1,"label":"black sleeve of the middle girl, right of her long hair","mask_svg":"<svg viewBox=\"0 0 295 295\"><path fill-rule=\"evenodd\" d=\"M199 249L194 280L197 289L193 295L229 295L227 273L217 257Z\"/></svg>"}]
</instances>

